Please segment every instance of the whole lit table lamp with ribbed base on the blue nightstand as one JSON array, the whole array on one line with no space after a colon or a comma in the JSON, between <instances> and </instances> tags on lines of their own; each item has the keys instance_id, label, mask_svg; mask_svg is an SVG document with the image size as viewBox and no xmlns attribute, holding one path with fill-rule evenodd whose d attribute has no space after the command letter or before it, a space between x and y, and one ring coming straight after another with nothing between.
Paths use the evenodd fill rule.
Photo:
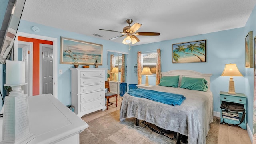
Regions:
<instances>
[{"instance_id":1,"label":"whole lit table lamp with ribbed base on the blue nightstand","mask_svg":"<svg viewBox=\"0 0 256 144\"><path fill-rule=\"evenodd\" d=\"M229 94L236 94L233 76L243 76L239 72L236 64L226 64L221 76L230 76L228 93Z\"/></svg>"}]
</instances>

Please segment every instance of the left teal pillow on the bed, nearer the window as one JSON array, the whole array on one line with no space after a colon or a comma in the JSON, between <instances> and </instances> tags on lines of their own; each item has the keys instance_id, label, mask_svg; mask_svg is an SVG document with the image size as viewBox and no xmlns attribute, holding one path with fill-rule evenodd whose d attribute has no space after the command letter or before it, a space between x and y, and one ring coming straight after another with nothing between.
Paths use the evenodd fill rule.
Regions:
<instances>
[{"instance_id":1,"label":"left teal pillow on the bed, nearer the window","mask_svg":"<svg viewBox=\"0 0 256 144\"><path fill-rule=\"evenodd\" d=\"M179 77L180 76L163 76L158 85L177 88L179 84Z\"/></svg>"}]
</instances>

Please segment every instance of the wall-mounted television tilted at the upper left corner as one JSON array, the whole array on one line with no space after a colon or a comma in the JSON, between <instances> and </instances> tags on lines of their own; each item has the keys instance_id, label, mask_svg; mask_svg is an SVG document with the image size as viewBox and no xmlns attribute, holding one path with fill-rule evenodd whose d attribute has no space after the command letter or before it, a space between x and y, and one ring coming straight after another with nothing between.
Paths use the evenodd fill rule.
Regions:
<instances>
[{"instance_id":1,"label":"wall-mounted television tilted at the upper left corner","mask_svg":"<svg viewBox=\"0 0 256 144\"><path fill-rule=\"evenodd\" d=\"M0 64L9 60L14 49L25 0L9 0L0 29Z\"/></svg>"}]
</instances>

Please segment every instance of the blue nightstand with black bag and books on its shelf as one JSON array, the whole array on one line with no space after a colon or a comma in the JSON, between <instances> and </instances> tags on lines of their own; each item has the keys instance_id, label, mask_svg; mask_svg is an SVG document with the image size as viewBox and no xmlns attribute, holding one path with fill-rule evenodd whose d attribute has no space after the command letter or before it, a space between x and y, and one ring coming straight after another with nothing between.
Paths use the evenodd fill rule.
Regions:
<instances>
[{"instance_id":1,"label":"blue nightstand with black bag and books on its shelf","mask_svg":"<svg viewBox=\"0 0 256 144\"><path fill-rule=\"evenodd\" d=\"M246 130L246 96L220 92L220 124L240 126Z\"/></svg>"}]
</instances>

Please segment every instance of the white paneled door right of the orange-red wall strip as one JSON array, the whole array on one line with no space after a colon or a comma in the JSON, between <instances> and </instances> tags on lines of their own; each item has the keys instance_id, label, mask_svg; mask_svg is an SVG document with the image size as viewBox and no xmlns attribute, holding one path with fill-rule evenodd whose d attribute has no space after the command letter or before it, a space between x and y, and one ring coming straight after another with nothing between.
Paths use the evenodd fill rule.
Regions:
<instances>
[{"instance_id":1,"label":"white paneled door right of the orange-red wall strip","mask_svg":"<svg viewBox=\"0 0 256 144\"><path fill-rule=\"evenodd\" d=\"M48 44L40 44L42 52L42 88L41 94L53 94L53 46Z\"/></svg>"}]
</instances>

